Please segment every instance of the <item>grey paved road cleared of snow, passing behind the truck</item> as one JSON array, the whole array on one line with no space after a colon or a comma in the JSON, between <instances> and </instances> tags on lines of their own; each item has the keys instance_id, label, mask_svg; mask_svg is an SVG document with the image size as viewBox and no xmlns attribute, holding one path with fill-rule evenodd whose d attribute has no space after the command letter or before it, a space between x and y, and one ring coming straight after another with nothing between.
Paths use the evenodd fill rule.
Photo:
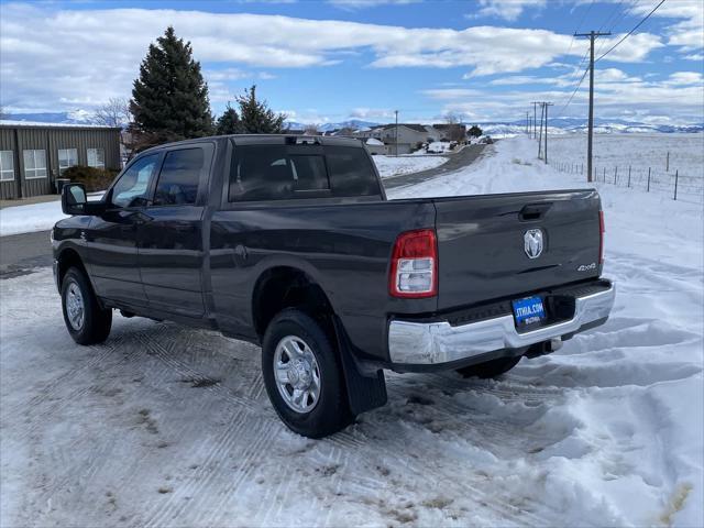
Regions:
<instances>
[{"instance_id":1,"label":"grey paved road cleared of snow, passing behind the truck","mask_svg":"<svg viewBox=\"0 0 704 528\"><path fill-rule=\"evenodd\" d=\"M442 174L458 170L474 162L485 145L468 145L458 154L439 167L387 178L384 187L393 189L406 185L419 184ZM48 242L48 231L36 233L13 234L0 238L0 279L10 278L28 273L34 267L52 264L52 248Z\"/></svg>"}]
</instances>

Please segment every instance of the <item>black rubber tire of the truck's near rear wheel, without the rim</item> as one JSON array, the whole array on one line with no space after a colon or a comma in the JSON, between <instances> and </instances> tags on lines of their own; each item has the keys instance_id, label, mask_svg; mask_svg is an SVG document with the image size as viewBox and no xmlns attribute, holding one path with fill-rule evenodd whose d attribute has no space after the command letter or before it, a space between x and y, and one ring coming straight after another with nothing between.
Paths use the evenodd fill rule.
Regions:
<instances>
[{"instance_id":1,"label":"black rubber tire of the truck's near rear wheel, without the rim","mask_svg":"<svg viewBox=\"0 0 704 528\"><path fill-rule=\"evenodd\" d=\"M311 410L306 413L289 407L279 393L275 378L274 359L277 346L292 336L305 342L312 352L319 371L319 396ZM323 328L305 312L288 308L268 324L262 344L262 374L276 414L292 431L308 438L322 438L344 429L354 420L337 346L331 344Z\"/></svg>"}]
</instances>

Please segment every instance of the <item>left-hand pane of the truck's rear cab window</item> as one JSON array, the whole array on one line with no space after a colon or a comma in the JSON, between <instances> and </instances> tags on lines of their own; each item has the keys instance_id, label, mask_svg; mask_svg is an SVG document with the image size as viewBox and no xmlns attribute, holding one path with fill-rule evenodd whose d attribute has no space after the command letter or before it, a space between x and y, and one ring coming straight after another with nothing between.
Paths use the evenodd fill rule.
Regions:
<instances>
[{"instance_id":1,"label":"left-hand pane of the truck's rear cab window","mask_svg":"<svg viewBox=\"0 0 704 528\"><path fill-rule=\"evenodd\" d=\"M294 175L285 146L238 146L230 169L230 201L293 198Z\"/></svg>"}]
</instances>

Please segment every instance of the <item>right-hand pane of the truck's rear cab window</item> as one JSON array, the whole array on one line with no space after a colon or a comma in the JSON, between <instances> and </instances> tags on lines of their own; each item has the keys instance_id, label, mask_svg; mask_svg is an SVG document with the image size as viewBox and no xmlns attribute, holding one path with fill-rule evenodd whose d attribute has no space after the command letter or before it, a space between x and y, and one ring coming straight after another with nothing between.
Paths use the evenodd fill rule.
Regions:
<instances>
[{"instance_id":1,"label":"right-hand pane of the truck's rear cab window","mask_svg":"<svg viewBox=\"0 0 704 528\"><path fill-rule=\"evenodd\" d=\"M332 196L380 196L378 180L364 148L329 146L326 148Z\"/></svg>"}]
</instances>

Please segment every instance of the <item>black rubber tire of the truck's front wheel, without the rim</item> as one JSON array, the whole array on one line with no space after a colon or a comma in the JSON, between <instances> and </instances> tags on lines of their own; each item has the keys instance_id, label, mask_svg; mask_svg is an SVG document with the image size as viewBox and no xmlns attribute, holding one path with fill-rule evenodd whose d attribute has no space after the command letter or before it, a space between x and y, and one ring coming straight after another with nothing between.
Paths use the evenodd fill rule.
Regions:
<instances>
[{"instance_id":1,"label":"black rubber tire of the truck's front wheel, without the rim","mask_svg":"<svg viewBox=\"0 0 704 528\"><path fill-rule=\"evenodd\" d=\"M82 322L77 327L72 323L67 306L73 288L78 288L82 304ZM77 267L70 267L62 280L62 310L66 329L78 344L102 343L108 339L112 327L112 310L100 307L88 277Z\"/></svg>"}]
</instances>

